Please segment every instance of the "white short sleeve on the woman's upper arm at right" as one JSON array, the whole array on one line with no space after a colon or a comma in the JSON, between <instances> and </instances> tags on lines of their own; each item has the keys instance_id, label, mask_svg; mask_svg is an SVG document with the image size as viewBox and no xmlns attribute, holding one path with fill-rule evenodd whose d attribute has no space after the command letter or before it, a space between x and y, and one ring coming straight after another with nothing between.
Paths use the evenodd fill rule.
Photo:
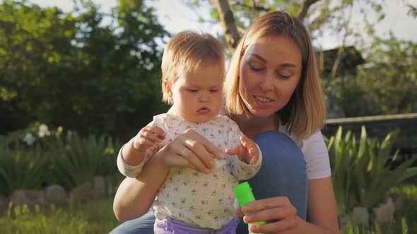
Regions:
<instances>
[{"instance_id":1,"label":"white short sleeve on the woman's upper arm at right","mask_svg":"<svg viewBox=\"0 0 417 234\"><path fill-rule=\"evenodd\" d=\"M303 140L301 151L305 156L309 180L331 176L329 152L327 152L322 132L317 131L317 133Z\"/></svg>"}]
</instances>

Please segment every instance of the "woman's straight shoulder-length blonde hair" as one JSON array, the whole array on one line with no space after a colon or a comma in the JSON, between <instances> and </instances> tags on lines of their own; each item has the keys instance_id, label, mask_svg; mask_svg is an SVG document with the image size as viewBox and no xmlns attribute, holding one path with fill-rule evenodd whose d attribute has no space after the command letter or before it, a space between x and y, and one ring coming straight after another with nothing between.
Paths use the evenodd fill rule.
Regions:
<instances>
[{"instance_id":1,"label":"woman's straight shoulder-length blonde hair","mask_svg":"<svg viewBox=\"0 0 417 234\"><path fill-rule=\"evenodd\" d=\"M237 44L225 77L226 110L232 115L250 114L239 93L240 62L249 46L270 35L290 37L300 48L303 63L300 81L288 104L276 112L276 119L286 126L288 133L305 139L323 127L326 104L310 35L303 23L289 13L274 11L260 16Z\"/></svg>"}]
</instances>

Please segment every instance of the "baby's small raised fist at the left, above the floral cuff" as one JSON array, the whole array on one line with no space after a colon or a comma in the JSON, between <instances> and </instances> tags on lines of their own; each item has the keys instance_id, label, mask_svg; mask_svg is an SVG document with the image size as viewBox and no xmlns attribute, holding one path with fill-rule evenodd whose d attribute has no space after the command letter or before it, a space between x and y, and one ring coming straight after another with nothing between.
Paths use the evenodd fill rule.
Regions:
<instances>
[{"instance_id":1,"label":"baby's small raised fist at the left, above the floral cuff","mask_svg":"<svg viewBox=\"0 0 417 234\"><path fill-rule=\"evenodd\" d=\"M145 153L149 147L158 147L165 139L165 132L158 126L151 125L142 128L133 139L133 147L141 153Z\"/></svg>"}]
</instances>

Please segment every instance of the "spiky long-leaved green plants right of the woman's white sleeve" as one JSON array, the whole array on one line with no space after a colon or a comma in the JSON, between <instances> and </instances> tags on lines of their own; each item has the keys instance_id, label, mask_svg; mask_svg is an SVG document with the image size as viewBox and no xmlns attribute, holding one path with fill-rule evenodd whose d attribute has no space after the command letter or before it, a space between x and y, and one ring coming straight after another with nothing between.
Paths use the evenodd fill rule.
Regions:
<instances>
[{"instance_id":1,"label":"spiky long-leaved green plants right of the woman's white sleeve","mask_svg":"<svg viewBox=\"0 0 417 234\"><path fill-rule=\"evenodd\" d=\"M398 133L395 130L379 142L368 138L363 127L356 142L351 131L343 137L340 127L326 139L339 214L348 214L356 206L374 207L392 187L417 174L416 168L409 168L414 159L390 169L398 156L398 152L390 154Z\"/></svg>"}]
</instances>

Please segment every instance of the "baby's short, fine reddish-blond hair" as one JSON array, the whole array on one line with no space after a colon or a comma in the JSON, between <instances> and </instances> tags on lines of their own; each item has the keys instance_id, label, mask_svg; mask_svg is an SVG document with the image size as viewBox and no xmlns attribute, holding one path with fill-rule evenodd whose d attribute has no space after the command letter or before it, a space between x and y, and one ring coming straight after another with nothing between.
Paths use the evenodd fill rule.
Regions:
<instances>
[{"instance_id":1,"label":"baby's short, fine reddish-blond hair","mask_svg":"<svg viewBox=\"0 0 417 234\"><path fill-rule=\"evenodd\" d=\"M200 66L218 64L221 68L221 74L224 74L224 54L225 51L221 43L207 33L191 30L177 33L168 42L162 57L163 101L172 104L164 82L173 85L182 73L198 69Z\"/></svg>"}]
</instances>

